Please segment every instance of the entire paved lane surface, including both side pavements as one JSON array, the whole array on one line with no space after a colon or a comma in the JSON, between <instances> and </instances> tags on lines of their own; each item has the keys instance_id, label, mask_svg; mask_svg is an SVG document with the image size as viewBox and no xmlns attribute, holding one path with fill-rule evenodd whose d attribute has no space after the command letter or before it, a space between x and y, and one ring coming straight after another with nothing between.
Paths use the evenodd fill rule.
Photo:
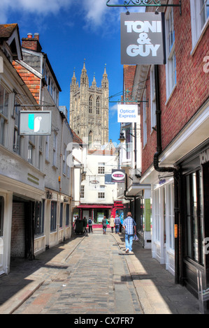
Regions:
<instances>
[{"instance_id":1,"label":"entire paved lane surface, including both side pavements","mask_svg":"<svg viewBox=\"0 0 209 328\"><path fill-rule=\"evenodd\" d=\"M174 283L150 250L137 241L133 249L134 254L124 252L124 234L104 235L98 229L34 261L16 260L10 275L1 277L0 313L199 314L198 300Z\"/></svg>"}]
</instances>

